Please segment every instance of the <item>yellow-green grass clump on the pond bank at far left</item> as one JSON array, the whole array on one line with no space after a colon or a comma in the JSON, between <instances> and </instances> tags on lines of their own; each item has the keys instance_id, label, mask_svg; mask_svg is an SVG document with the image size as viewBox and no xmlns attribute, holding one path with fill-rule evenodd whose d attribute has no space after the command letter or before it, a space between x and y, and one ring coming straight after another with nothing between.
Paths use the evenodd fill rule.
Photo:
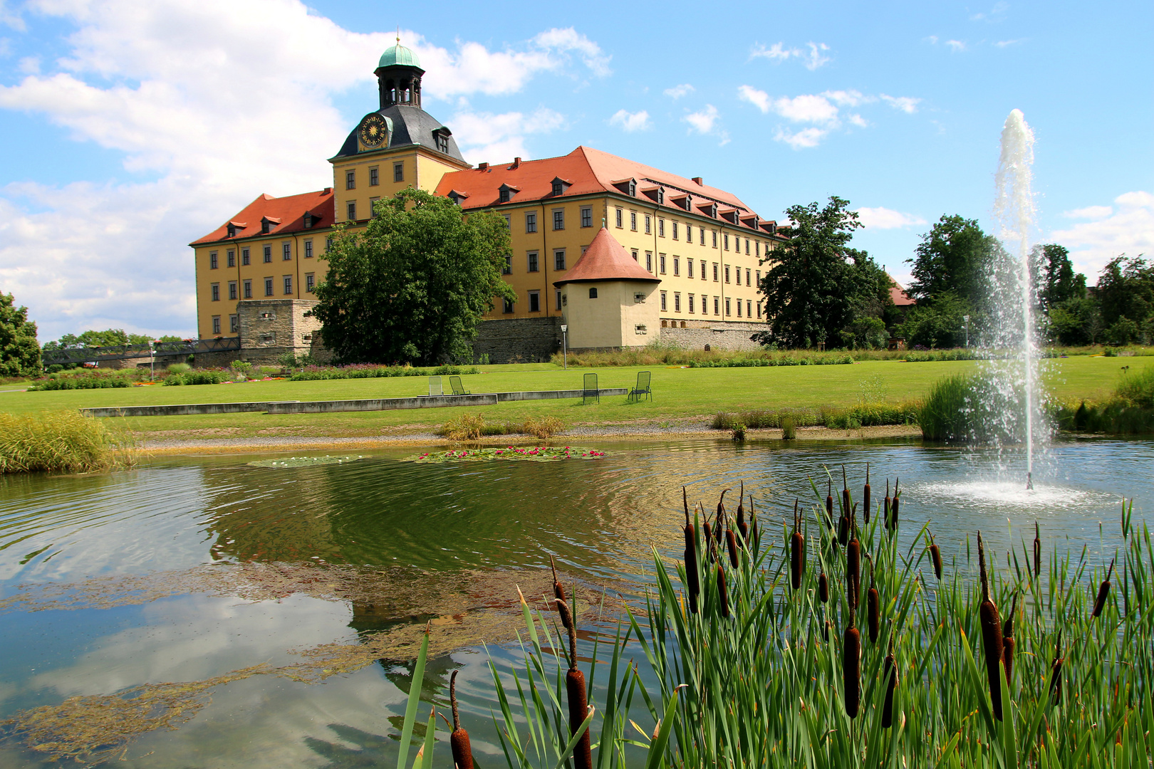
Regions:
<instances>
[{"instance_id":1,"label":"yellow-green grass clump on the pond bank at far left","mask_svg":"<svg viewBox=\"0 0 1154 769\"><path fill-rule=\"evenodd\" d=\"M77 412L0 414L0 474L93 473L136 461L130 435Z\"/></svg>"}]
</instances>

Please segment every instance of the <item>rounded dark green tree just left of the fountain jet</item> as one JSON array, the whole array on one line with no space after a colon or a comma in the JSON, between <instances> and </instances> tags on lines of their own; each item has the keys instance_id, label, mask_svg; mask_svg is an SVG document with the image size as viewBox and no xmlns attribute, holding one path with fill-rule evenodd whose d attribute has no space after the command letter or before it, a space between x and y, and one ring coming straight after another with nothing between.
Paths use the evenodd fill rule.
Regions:
<instances>
[{"instance_id":1,"label":"rounded dark green tree just left of the fountain jet","mask_svg":"<svg viewBox=\"0 0 1154 769\"><path fill-rule=\"evenodd\" d=\"M1002 244L987 235L976 219L943 216L922 235L906 293L919 304L932 304L946 292L971 308L980 308L988 294L989 271Z\"/></svg>"}]
</instances>

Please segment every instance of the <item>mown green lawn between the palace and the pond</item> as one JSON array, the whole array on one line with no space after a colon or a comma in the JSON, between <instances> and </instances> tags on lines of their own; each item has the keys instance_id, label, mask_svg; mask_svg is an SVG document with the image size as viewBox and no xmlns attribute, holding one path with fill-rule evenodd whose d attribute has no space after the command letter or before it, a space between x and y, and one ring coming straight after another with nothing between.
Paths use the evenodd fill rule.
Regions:
<instances>
[{"instance_id":1,"label":"mown green lawn between the palace and the pond","mask_svg":"<svg viewBox=\"0 0 1154 769\"><path fill-rule=\"evenodd\" d=\"M1096 398L1109 393L1122 367L1136 371L1154 364L1154 357L1070 357L1048 361L1047 382L1058 399ZM921 398L939 377L973 370L973 361L905 363L865 361L853 365L797 365L748 369L682 369L664 367L570 368L549 363L487 365L482 374L463 377L466 390L502 392L517 390L569 390L582 386L582 376L595 371L601 387L629 387L638 370L653 371L653 400L627 405L624 397L602 398L582 406L580 400L546 400L469 409L486 421L523 421L553 415L565 424L621 423L634 420L675 420L712 415L719 410L750 408L844 407L859 401L867 390L889 401ZM448 385L448 382L444 383ZM254 382L245 384L129 390L72 390L51 392L0 392L0 410L31 413L91 406L150 404L202 404L268 400L344 400L395 398L428 392L424 377L382 379L331 379L325 382ZM217 414L125 420L135 431L171 432L179 437L249 436L374 436L385 431L432 428L458 416L464 409L430 408L397 412L338 414Z\"/></svg>"}]
</instances>

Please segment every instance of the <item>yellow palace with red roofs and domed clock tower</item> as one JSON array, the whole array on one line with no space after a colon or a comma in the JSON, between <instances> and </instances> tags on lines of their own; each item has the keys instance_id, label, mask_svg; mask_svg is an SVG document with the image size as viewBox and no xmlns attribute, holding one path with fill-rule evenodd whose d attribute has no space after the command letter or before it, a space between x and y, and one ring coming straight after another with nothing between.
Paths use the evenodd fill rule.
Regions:
<instances>
[{"instance_id":1,"label":"yellow palace with red roofs and domed clock tower","mask_svg":"<svg viewBox=\"0 0 1154 769\"><path fill-rule=\"evenodd\" d=\"M375 70L380 108L329 158L331 188L261 195L190 243L202 339L240 337L240 356L254 361L284 350L323 357L316 322L305 312L324 280L334 225L364 226L377 199L415 187L465 213L496 210L509 223L503 277L517 301L499 301L486 317L478 355L547 359L560 348L562 324L578 349L658 339L754 346L749 337L765 323L760 261L782 241L774 221L702 178L587 146L471 166L452 131L421 108L424 71L399 43L385 51ZM598 236L597 254L582 264Z\"/></svg>"}]
</instances>

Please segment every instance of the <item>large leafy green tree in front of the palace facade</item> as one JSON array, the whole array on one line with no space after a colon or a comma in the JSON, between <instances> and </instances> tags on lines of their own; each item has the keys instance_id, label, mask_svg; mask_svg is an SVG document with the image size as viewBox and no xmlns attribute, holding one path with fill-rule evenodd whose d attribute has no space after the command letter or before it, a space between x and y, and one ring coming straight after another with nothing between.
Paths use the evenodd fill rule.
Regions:
<instances>
[{"instance_id":1,"label":"large leafy green tree in front of the palace facade","mask_svg":"<svg viewBox=\"0 0 1154 769\"><path fill-rule=\"evenodd\" d=\"M501 279L512 254L492 211L463 216L452 201L405 189L379 201L364 231L342 231L316 287L324 346L345 363L467 360L494 299L516 300Z\"/></svg>"}]
</instances>

